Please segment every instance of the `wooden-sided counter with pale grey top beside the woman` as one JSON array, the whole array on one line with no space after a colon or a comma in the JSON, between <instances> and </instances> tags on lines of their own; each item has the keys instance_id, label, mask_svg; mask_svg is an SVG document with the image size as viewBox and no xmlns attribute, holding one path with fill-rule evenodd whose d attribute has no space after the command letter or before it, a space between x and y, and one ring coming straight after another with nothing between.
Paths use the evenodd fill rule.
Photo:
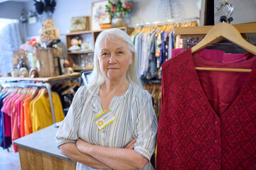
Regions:
<instances>
[{"instance_id":1,"label":"wooden-sided counter with pale grey top beside the woman","mask_svg":"<svg viewBox=\"0 0 256 170\"><path fill-rule=\"evenodd\" d=\"M14 141L18 146L22 170L75 170L76 162L60 154L57 148L57 130L51 125Z\"/></svg>"}]
</instances>

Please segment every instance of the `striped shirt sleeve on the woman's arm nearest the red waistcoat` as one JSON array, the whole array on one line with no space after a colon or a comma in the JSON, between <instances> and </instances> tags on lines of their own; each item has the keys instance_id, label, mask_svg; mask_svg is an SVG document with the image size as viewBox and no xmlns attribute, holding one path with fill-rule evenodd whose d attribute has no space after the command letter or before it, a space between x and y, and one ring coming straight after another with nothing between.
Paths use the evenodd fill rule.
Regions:
<instances>
[{"instance_id":1,"label":"striped shirt sleeve on the woman's arm nearest the red waistcoat","mask_svg":"<svg viewBox=\"0 0 256 170\"><path fill-rule=\"evenodd\" d=\"M134 150L150 161L156 149L156 133L158 127L156 113L154 113L151 96L147 92L143 93L142 98L137 102L143 104L139 108L135 128L137 131L137 142L134 145Z\"/></svg>"}]
</instances>

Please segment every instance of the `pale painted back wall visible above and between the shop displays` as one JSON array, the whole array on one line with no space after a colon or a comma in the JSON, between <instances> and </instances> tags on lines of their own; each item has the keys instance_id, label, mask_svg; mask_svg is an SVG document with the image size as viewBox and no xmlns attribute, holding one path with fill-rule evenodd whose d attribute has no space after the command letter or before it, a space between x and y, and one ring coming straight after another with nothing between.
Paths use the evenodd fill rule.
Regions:
<instances>
[{"instance_id":1,"label":"pale painted back wall visible above and between the shop displays","mask_svg":"<svg viewBox=\"0 0 256 170\"><path fill-rule=\"evenodd\" d=\"M53 19L55 20L55 26L60 29L60 39L65 43L65 34L69 33L70 17L72 16L90 16L91 4L93 1L98 0L55 0L57 5L55 6L55 12L53 13ZM138 23L159 21L159 4L166 0L133 0L132 12L126 18L128 26L135 27ZM178 0L170 0L175 2ZM222 0L214 0L215 6ZM256 0L228 0L230 4L235 6L233 13L235 23L247 23L256 21ZM35 11L34 1L28 1L26 3L7 1L0 3L0 18L20 18L22 8L26 11ZM182 17L199 17L201 0L180 0L180 6L183 8ZM219 21L219 18L225 13L227 8L223 8L221 11L215 13L215 24ZM245 12L246 11L246 12ZM46 19L46 13L39 16L40 20ZM164 18L165 19L165 18ZM166 18L166 20L169 18ZM38 30L41 28L41 23L26 24L27 36L38 35Z\"/></svg>"}]
</instances>

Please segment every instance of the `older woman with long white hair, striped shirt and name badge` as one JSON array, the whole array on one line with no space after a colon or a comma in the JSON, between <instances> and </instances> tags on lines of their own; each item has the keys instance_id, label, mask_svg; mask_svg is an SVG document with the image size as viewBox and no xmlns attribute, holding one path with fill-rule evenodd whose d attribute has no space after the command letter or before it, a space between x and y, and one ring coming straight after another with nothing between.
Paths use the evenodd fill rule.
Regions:
<instances>
[{"instance_id":1,"label":"older woman with long white hair, striped shirt and name badge","mask_svg":"<svg viewBox=\"0 0 256 170\"><path fill-rule=\"evenodd\" d=\"M129 35L117 28L102 31L94 65L58 129L60 152L81 170L154 169L157 120Z\"/></svg>"}]
</instances>

